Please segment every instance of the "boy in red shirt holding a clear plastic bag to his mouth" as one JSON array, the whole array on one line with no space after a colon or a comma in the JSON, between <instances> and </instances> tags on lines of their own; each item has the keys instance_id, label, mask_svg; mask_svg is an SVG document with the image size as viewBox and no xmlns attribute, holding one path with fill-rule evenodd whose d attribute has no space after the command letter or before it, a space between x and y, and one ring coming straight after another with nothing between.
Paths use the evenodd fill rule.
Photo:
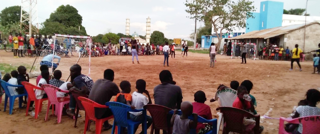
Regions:
<instances>
[{"instance_id":1,"label":"boy in red shirt holding a clear plastic bag to his mouth","mask_svg":"<svg viewBox=\"0 0 320 134\"><path fill-rule=\"evenodd\" d=\"M247 101L244 100L244 95L248 94L247 89L245 88L245 86L239 86L237 89L238 93L238 97L236 98L236 100L233 102L232 107L234 108L238 108L238 109L242 109L242 110L251 110L251 111L255 111L254 110L254 106L252 101ZM256 125L256 121L251 120L251 119L246 119L246 117L243 119L243 124L245 126L245 131L246 132L251 132L252 129L254 128L254 126Z\"/></svg>"}]
</instances>

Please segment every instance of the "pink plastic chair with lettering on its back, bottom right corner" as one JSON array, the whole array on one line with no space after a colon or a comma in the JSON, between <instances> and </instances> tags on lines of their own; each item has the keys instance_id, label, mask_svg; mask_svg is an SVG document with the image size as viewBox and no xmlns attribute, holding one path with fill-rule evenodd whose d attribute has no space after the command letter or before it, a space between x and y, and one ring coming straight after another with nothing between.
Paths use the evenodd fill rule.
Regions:
<instances>
[{"instance_id":1,"label":"pink plastic chair with lettering on its back, bottom right corner","mask_svg":"<svg viewBox=\"0 0 320 134\"><path fill-rule=\"evenodd\" d=\"M284 121L293 124L302 124L303 134L320 134L320 116L307 116L295 119L280 117L279 134L291 134L284 130Z\"/></svg>"}]
</instances>

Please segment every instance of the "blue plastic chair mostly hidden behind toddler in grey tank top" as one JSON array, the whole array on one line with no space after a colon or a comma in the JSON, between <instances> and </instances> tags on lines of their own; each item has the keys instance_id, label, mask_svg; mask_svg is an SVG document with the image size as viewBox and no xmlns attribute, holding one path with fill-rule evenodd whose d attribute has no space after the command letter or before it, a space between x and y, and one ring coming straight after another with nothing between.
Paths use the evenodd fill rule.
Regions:
<instances>
[{"instance_id":1,"label":"blue plastic chair mostly hidden behind toddler in grey tank top","mask_svg":"<svg viewBox=\"0 0 320 134\"><path fill-rule=\"evenodd\" d=\"M173 114L173 110L169 112L169 114ZM182 115L181 110L178 110L177 115ZM192 115L190 115L188 117L188 119L190 120L194 120L194 117ZM199 123L212 123L212 130L206 132L205 134L217 134L217 123L218 120L217 119L211 119L211 120L207 120L201 116L198 116L198 122ZM190 129L190 134L196 134L196 129Z\"/></svg>"}]
</instances>

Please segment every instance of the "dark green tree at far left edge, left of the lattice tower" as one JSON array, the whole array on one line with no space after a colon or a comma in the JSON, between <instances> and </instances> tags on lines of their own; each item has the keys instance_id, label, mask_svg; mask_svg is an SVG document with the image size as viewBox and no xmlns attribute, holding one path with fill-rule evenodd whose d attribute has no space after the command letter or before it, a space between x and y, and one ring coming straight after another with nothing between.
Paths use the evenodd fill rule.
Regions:
<instances>
[{"instance_id":1,"label":"dark green tree at far left edge, left of the lattice tower","mask_svg":"<svg viewBox=\"0 0 320 134\"><path fill-rule=\"evenodd\" d=\"M0 13L0 25L6 26L11 23L20 23L21 6L6 7Z\"/></svg>"}]
</instances>

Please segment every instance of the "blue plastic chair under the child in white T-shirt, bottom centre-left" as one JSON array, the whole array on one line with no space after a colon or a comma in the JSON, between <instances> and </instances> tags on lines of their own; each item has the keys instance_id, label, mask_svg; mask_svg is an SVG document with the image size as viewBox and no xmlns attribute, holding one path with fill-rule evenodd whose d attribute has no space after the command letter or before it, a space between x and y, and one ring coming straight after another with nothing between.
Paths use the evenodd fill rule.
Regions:
<instances>
[{"instance_id":1,"label":"blue plastic chair under the child in white T-shirt, bottom centre-left","mask_svg":"<svg viewBox=\"0 0 320 134\"><path fill-rule=\"evenodd\" d=\"M147 134L147 111L145 109L131 109L130 106L118 103L118 102L107 102L112 114L114 116L114 122L112 127L112 134L115 132L115 127L118 127L118 134L121 134L123 127L128 128L128 134L134 134L134 128L142 124L144 134ZM128 112L141 112L144 116L143 121L133 121L128 119Z\"/></svg>"}]
</instances>

